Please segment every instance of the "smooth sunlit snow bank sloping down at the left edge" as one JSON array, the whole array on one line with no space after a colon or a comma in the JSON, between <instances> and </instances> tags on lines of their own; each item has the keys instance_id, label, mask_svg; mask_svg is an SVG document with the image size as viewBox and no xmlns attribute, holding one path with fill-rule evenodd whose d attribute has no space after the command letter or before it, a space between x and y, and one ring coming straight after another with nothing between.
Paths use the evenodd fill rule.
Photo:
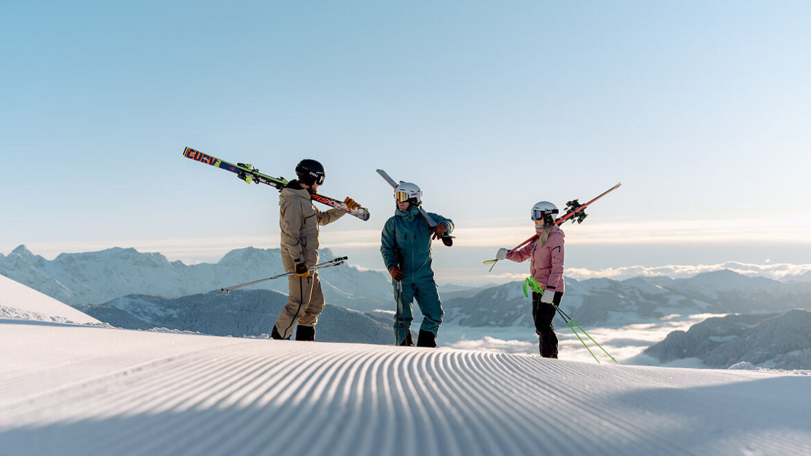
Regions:
<instances>
[{"instance_id":1,"label":"smooth sunlit snow bank sloping down at the left edge","mask_svg":"<svg viewBox=\"0 0 811 456\"><path fill-rule=\"evenodd\" d=\"M92 316L2 275L0 275L0 318L101 323Z\"/></svg>"}]
</instances>

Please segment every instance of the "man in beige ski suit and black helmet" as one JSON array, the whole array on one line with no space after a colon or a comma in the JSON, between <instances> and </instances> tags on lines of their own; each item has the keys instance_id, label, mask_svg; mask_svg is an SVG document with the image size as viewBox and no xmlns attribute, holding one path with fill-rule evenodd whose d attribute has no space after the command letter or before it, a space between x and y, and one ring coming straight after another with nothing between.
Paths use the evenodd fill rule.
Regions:
<instances>
[{"instance_id":1,"label":"man in beige ski suit and black helmet","mask_svg":"<svg viewBox=\"0 0 811 456\"><path fill-rule=\"evenodd\" d=\"M318 264L318 227L335 222L344 212L341 209L321 212L312 203L311 195L324 183L324 166L318 161L300 161L296 174L298 179L290 181L279 195L281 265L286 272L295 274L288 277L290 296L273 325L271 337L290 339L298 323L296 340L313 341L315 324L325 304L318 271L309 268ZM360 206L349 197L344 202L350 209Z\"/></svg>"}]
</instances>

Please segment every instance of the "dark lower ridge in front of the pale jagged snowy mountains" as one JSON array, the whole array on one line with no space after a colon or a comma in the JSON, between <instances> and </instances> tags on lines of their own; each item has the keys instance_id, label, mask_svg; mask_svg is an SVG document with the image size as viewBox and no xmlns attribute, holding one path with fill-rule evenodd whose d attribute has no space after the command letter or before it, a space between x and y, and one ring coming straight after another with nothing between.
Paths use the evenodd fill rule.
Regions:
<instances>
[{"instance_id":1,"label":"dark lower ridge in front of the pale jagged snowy mountains","mask_svg":"<svg viewBox=\"0 0 811 456\"><path fill-rule=\"evenodd\" d=\"M287 303L275 290L209 292L168 299L128 295L104 304L80 304L80 311L118 328L167 328L215 336L267 336ZM327 304L317 325L320 342L392 344L393 320L380 314L361 313Z\"/></svg>"}]
</instances>

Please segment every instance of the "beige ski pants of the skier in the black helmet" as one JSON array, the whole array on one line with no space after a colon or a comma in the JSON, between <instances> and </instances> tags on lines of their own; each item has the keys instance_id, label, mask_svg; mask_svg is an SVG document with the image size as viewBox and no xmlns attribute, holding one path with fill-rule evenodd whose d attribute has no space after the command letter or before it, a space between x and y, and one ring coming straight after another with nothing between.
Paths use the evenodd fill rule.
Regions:
<instances>
[{"instance_id":1,"label":"beige ski pants of the skier in the black helmet","mask_svg":"<svg viewBox=\"0 0 811 456\"><path fill-rule=\"evenodd\" d=\"M276 330L285 339L293 335L297 322L298 325L315 326L325 305L318 271L310 271L307 277L291 275L287 280L290 295L276 320Z\"/></svg>"}]
</instances>

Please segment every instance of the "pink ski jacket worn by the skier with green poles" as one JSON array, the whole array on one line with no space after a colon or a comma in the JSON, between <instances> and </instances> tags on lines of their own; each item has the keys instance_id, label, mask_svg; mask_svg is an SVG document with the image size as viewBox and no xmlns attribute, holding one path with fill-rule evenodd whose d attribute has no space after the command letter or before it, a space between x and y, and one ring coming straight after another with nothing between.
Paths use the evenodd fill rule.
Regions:
<instances>
[{"instance_id":1,"label":"pink ski jacket worn by the skier with green poles","mask_svg":"<svg viewBox=\"0 0 811 456\"><path fill-rule=\"evenodd\" d=\"M543 230L538 230L539 234ZM507 259L516 263L530 260L530 273L544 290L555 290L564 292L563 278L563 239L566 236L560 226L552 226L549 232L547 245L539 247L541 238L535 239L520 250L507 252Z\"/></svg>"}]
</instances>

